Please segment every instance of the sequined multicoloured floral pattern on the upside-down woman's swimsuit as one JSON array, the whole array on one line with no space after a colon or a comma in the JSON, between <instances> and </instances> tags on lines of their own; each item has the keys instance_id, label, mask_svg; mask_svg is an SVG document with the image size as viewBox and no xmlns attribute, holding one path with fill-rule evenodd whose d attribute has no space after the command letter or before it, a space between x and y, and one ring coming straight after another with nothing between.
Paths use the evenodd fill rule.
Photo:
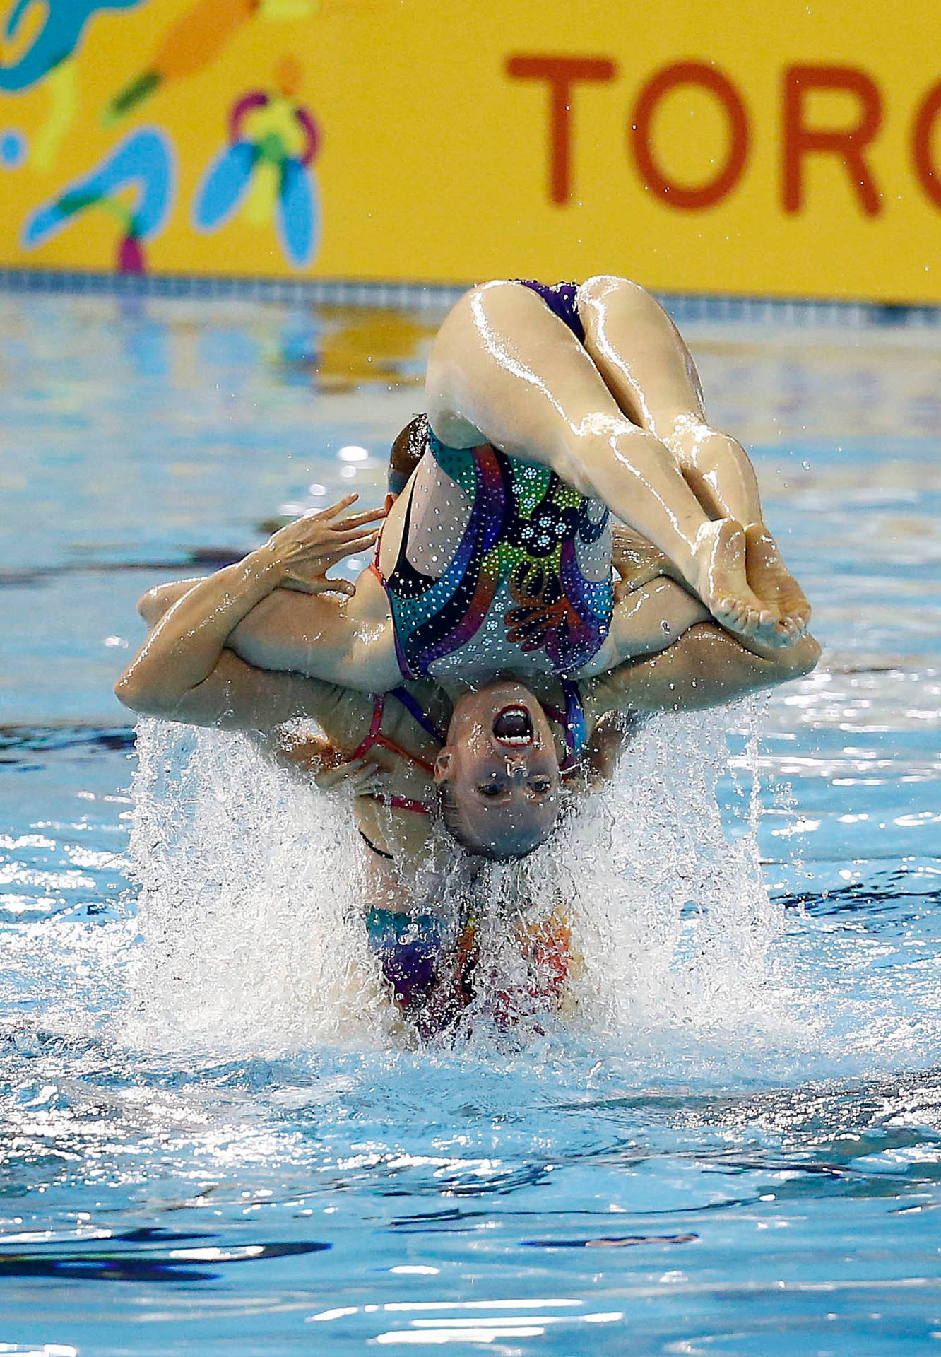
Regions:
<instances>
[{"instance_id":1,"label":"sequined multicoloured floral pattern on the upside-down woman's swimsuit","mask_svg":"<svg viewBox=\"0 0 941 1357\"><path fill-rule=\"evenodd\" d=\"M548 467L508 457L484 444L447 448L430 430L428 453L456 480L472 509L464 536L439 579L408 562L405 544L384 581L403 674L427 674L437 660L465 646L506 585L506 639L542 651L550 672L578 672L602 646L612 620L610 575L586 579L579 546L609 532L607 509L567 486Z\"/></svg>"}]
</instances>

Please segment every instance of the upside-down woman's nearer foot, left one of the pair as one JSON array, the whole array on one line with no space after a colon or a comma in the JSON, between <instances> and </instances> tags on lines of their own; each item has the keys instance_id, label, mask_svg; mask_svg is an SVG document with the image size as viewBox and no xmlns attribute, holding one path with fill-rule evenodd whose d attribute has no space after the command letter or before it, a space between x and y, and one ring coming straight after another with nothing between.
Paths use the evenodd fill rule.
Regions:
<instances>
[{"instance_id":1,"label":"upside-down woman's nearer foot, left one of the pair","mask_svg":"<svg viewBox=\"0 0 941 1357\"><path fill-rule=\"evenodd\" d=\"M727 631L765 645L785 646L777 615L748 586L747 543L736 518L717 518L700 528L694 548L696 592Z\"/></svg>"}]
</instances>

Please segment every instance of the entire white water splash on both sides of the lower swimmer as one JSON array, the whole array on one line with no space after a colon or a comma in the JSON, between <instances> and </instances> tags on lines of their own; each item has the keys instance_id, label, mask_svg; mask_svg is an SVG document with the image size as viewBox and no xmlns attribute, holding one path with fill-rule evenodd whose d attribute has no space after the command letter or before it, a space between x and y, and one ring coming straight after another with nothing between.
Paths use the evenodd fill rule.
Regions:
<instances>
[{"instance_id":1,"label":"entire white water splash on both sides of the lower swimmer","mask_svg":"<svg viewBox=\"0 0 941 1357\"><path fill-rule=\"evenodd\" d=\"M757 708L736 718L754 768ZM526 939L560 917L578 958L569 1029L636 1039L754 1011L781 911L762 882L754 778L732 836L723 828L727 726L727 711L651 722L613 783L537 854L472 878L456 863L435 904L452 935L473 915L479 949L458 1042L506 1029L508 1011L519 1039L546 1037L556 1006L533 995ZM137 1039L389 1039L397 1025L362 925L348 802L286 776L244 735L153 721L138 729L133 791Z\"/></svg>"}]
</instances>

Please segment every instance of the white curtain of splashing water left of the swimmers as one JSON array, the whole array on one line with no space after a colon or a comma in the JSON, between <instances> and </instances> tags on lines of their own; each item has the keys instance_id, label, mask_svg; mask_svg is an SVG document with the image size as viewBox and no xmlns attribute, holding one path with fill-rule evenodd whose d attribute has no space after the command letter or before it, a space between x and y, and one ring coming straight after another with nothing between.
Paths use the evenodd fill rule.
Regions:
<instances>
[{"instance_id":1,"label":"white curtain of splashing water left of the swimmers","mask_svg":"<svg viewBox=\"0 0 941 1357\"><path fill-rule=\"evenodd\" d=\"M137 1038L258 1048L376 1035L353 820L245 735L142 721L130 856Z\"/></svg>"}]
</instances>

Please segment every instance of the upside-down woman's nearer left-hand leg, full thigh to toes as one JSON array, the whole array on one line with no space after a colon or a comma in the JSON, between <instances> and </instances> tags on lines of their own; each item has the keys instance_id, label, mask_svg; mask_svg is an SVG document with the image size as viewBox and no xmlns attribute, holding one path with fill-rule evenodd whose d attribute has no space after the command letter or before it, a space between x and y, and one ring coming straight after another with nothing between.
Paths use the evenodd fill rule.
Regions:
<instances>
[{"instance_id":1,"label":"upside-down woman's nearer left-hand leg, full thigh to toes","mask_svg":"<svg viewBox=\"0 0 941 1357\"><path fill-rule=\"evenodd\" d=\"M431 347L426 394L442 442L487 441L552 467L649 537L731 631L753 636L774 624L748 586L742 525L706 514L675 456L622 413L586 349L530 288L492 282L460 299Z\"/></svg>"}]
</instances>

